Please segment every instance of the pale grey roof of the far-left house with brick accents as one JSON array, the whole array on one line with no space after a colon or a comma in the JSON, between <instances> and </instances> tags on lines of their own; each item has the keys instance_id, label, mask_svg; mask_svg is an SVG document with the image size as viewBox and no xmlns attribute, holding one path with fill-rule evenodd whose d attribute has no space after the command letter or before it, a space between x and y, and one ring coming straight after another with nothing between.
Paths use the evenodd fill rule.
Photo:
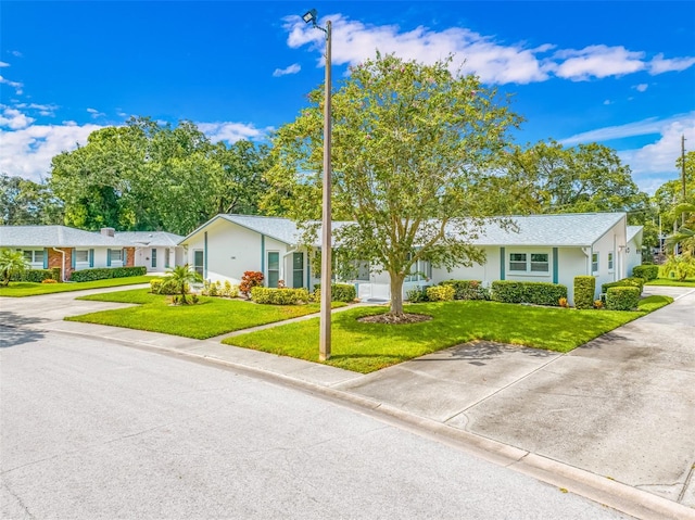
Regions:
<instances>
[{"instance_id":1,"label":"pale grey roof of the far-left house with brick accents","mask_svg":"<svg viewBox=\"0 0 695 520\"><path fill-rule=\"evenodd\" d=\"M0 248L170 248L179 240L179 236L163 231L117 232L108 237L67 226L0 226Z\"/></svg>"}]
</instances>

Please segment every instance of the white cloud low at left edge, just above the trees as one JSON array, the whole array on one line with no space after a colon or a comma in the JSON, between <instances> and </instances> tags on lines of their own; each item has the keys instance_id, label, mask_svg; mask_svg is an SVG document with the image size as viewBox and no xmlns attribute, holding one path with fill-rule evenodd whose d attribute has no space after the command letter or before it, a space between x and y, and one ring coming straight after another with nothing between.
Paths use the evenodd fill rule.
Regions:
<instances>
[{"instance_id":1,"label":"white cloud low at left edge, just above the trees","mask_svg":"<svg viewBox=\"0 0 695 520\"><path fill-rule=\"evenodd\" d=\"M0 130L0 172L40 181L50 172L51 158L85 144L99 125L34 125Z\"/></svg>"}]
</instances>

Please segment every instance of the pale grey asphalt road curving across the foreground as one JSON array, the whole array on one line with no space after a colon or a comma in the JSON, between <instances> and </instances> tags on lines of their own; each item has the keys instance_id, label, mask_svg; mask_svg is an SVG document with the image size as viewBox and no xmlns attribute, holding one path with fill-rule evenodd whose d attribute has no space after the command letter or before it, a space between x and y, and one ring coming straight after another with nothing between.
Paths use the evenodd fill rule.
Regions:
<instances>
[{"instance_id":1,"label":"pale grey asphalt road curving across the foreground","mask_svg":"<svg viewBox=\"0 0 695 520\"><path fill-rule=\"evenodd\" d=\"M229 369L10 329L8 519L626 518L450 445Z\"/></svg>"}]
</instances>

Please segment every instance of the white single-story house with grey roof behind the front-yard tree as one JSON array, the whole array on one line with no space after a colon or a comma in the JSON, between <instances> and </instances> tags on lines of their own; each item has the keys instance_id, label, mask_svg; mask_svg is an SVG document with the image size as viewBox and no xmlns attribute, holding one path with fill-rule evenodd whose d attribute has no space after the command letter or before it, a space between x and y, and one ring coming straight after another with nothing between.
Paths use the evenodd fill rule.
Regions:
<instances>
[{"instance_id":1,"label":"white single-story house with grey roof behind the front-yard tree","mask_svg":"<svg viewBox=\"0 0 695 520\"><path fill-rule=\"evenodd\" d=\"M406 278L404 297L416 287L448 279L475 279L489 286L495 280L526 280L561 283L572 302L573 279L596 277L596 297L601 284L616 281L640 265L642 228L628 231L624 213L586 213L513 217L517 230L489 224L473 241L485 252L486 261L471 267L447 271L420 262ZM345 223L336 223L336 226ZM220 214L180 241L187 262L203 278L239 283L247 270L261 271L267 287L285 280L287 287L312 289L309 255L299 241L296 225L287 218ZM318 248L319 244L313 244ZM354 280L363 300L390 299L389 275L368 264Z\"/></svg>"}]
</instances>

